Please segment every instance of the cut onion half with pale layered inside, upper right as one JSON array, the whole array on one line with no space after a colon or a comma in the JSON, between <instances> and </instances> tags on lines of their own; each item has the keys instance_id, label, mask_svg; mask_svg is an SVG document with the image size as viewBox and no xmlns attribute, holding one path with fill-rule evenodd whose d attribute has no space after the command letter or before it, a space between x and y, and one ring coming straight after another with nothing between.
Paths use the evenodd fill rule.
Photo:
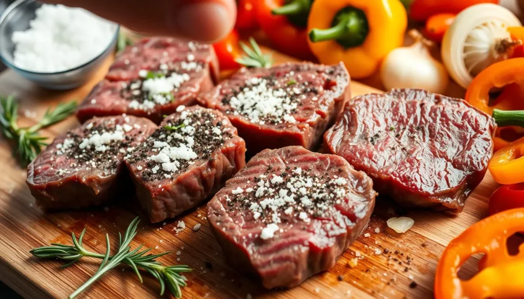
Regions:
<instances>
[{"instance_id":1,"label":"cut onion half with pale layered inside, upper right","mask_svg":"<svg viewBox=\"0 0 524 299\"><path fill-rule=\"evenodd\" d=\"M467 88L473 78L495 62L508 59L521 41L511 40L508 27L522 26L503 6L484 3L458 14L442 40L442 61L451 77Z\"/></svg>"}]
</instances>

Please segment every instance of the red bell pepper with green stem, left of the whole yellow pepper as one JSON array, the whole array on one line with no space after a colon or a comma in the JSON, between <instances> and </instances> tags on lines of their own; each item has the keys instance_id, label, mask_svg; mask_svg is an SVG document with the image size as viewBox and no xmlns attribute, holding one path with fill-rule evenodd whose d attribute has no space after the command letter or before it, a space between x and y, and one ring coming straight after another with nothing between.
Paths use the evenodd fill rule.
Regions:
<instances>
[{"instance_id":1,"label":"red bell pepper with green stem, left of the whole yellow pepper","mask_svg":"<svg viewBox=\"0 0 524 299\"><path fill-rule=\"evenodd\" d=\"M306 28L312 0L259 0L258 24L275 49L288 55L310 60Z\"/></svg>"}]
</instances>

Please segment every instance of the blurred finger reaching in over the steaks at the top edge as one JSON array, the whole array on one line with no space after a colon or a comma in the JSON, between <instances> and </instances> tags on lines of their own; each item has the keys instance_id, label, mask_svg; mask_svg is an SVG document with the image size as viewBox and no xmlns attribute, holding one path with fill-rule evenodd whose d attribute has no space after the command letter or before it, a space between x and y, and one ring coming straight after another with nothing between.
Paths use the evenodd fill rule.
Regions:
<instances>
[{"instance_id":1,"label":"blurred finger reaching in over the steaks at the top edge","mask_svg":"<svg viewBox=\"0 0 524 299\"><path fill-rule=\"evenodd\" d=\"M204 42L225 37L235 25L234 0L43 0L82 7L108 20L147 34Z\"/></svg>"}]
</instances>

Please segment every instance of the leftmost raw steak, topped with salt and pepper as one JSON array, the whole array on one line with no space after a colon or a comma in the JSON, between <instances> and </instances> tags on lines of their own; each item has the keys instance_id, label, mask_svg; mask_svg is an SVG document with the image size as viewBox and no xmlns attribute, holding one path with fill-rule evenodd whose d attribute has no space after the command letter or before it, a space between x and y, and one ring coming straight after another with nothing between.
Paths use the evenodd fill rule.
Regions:
<instances>
[{"instance_id":1,"label":"leftmost raw steak, topped with salt and pepper","mask_svg":"<svg viewBox=\"0 0 524 299\"><path fill-rule=\"evenodd\" d=\"M99 205L127 190L123 159L156 128L134 116L93 118L57 137L27 168L27 185L45 210Z\"/></svg>"}]
</instances>

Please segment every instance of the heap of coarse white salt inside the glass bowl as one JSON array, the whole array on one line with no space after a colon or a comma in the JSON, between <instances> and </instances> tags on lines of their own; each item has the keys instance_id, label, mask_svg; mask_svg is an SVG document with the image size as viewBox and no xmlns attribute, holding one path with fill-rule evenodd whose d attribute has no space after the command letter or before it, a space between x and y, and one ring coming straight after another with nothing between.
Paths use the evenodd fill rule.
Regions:
<instances>
[{"instance_id":1,"label":"heap of coarse white salt inside the glass bowl","mask_svg":"<svg viewBox=\"0 0 524 299\"><path fill-rule=\"evenodd\" d=\"M16 67L54 73L80 67L102 54L117 25L87 10L43 4L30 28L13 33Z\"/></svg>"}]
</instances>

